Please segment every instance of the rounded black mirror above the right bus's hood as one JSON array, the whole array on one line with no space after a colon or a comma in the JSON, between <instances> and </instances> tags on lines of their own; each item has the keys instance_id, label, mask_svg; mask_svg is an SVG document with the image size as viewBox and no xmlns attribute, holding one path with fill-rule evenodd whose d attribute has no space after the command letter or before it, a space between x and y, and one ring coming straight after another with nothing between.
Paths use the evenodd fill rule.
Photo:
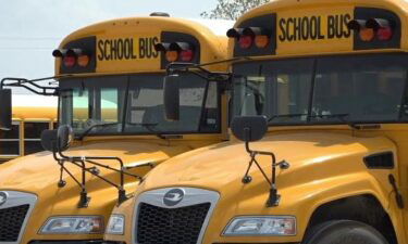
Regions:
<instances>
[{"instance_id":1,"label":"rounded black mirror above the right bus's hood","mask_svg":"<svg viewBox=\"0 0 408 244\"><path fill-rule=\"evenodd\" d=\"M268 131L268 119L265 116L235 117L231 130L240 141L259 141Z\"/></svg>"}]
</instances>

